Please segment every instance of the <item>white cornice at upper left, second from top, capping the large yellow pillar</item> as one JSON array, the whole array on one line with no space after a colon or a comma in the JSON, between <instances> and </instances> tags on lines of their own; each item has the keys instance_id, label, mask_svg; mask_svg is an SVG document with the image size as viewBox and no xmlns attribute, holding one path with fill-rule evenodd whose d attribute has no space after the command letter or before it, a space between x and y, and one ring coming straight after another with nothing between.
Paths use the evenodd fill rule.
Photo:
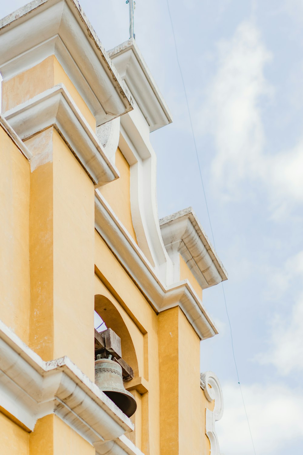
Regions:
<instances>
[{"instance_id":1,"label":"white cornice at upper left, second from top, capping the large yellow pillar","mask_svg":"<svg viewBox=\"0 0 303 455\"><path fill-rule=\"evenodd\" d=\"M22 140L55 126L95 185L119 177L118 170L105 155L97 136L63 84L40 93L3 115ZM36 165L37 157L33 157L32 169Z\"/></svg>"}]
</instances>

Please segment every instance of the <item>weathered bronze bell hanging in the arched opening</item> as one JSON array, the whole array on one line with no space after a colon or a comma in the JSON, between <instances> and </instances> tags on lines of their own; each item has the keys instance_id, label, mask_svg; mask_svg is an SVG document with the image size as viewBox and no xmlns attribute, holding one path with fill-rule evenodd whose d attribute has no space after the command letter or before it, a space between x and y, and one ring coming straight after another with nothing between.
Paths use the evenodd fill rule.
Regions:
<instances>
[{"instance_id":1,"label":"weathered bronze bell hanging in the arched opening","mask_svg":"<svg viewBox=\"0 0 303 455\"><path fill-rule=\"evenodd\" d=\"M94 362L95 384L114 404L128 417L134 414L137 403L133 395L124 389L122 368L109 359L99 359Z\"/></svg>"}]
</instances>

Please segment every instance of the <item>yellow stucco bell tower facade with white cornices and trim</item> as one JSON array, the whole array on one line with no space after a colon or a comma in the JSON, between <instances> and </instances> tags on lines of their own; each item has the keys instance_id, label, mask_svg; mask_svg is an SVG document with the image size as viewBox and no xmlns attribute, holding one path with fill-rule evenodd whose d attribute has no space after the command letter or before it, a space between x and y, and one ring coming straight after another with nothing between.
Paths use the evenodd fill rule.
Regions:
<instances>
[{"instance_id":1,"label":"yellow stucco bell tower facade with white cornices and trim","mask_svg":"<svg viewBox=\"0 0 303 455\"><path fill-rule=\"evenodd\" d=\"M77 0L0 21L1 455L219 455L226 271L191 208L158 219L150 132L169 109L133 39L105 52ZM94 311L133 370L127 417L94 384Z\"/></svg>"}]
</instances>

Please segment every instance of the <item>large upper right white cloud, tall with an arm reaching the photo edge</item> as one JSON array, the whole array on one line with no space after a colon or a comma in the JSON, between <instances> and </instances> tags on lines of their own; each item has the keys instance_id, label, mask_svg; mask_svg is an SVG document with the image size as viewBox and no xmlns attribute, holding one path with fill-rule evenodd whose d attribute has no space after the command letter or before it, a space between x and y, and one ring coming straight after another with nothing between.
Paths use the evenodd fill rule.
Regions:
<instances>
[{"instance_id":1,"label":"large upper right white cloud, tall with an arm reaching the photo edge","mask_svg":"<svg viewBox=\"0 0 303 455\"><path fill-rule=\"evenodd\" d=\"M238 197L244 181L267 190L275 217L303 202L303 138L292 149L268 154L263 128L264 101L273 87L264 76L272 55L253 22L241 23L219 44L218 70L203 111L214 136L214 182L226 196Z\"/></svg>"}]
</instances>

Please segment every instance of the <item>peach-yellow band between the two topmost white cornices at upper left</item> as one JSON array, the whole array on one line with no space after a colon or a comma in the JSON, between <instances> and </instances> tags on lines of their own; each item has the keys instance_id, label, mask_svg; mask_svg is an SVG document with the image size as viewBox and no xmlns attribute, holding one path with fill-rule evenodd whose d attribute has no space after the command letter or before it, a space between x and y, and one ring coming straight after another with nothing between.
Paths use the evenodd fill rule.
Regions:
<instances>
[{"instance_id":1,"label":"peach-yellow band between the two topmost white cornices at upper left","mask_svg":"<svg viewBox=\"0 0 303 455\"><path fill-rule=\"evenodd\" d=\"M8 81L2 82L2 112L10 110L60 83L65 85L89 126L96 131L96 120L93 114L54 55Z\"/></svg>"}]
</instances>

